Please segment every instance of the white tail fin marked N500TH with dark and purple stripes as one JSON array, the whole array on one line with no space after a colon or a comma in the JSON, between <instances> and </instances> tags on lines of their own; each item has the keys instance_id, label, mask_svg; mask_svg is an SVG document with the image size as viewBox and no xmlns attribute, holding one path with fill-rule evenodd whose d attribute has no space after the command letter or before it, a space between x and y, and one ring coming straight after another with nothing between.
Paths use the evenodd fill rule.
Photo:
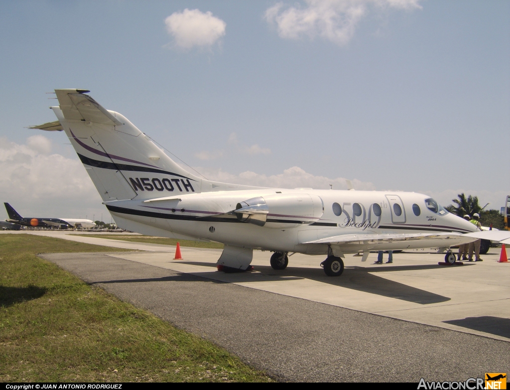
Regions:
<instances>
[{"instance_id":1,"label":"white tail fin marked N500TH with dark and purple stripes","mask_svg":"<svg viewBox=\"0 0 510 390\"><path fill-rule=\"evenodd\" d=\"M52 107L103 201L201 192L202 180L183 169L123 115L106 110L86 90L56 89Z\"/></svg>"}]
</instances>

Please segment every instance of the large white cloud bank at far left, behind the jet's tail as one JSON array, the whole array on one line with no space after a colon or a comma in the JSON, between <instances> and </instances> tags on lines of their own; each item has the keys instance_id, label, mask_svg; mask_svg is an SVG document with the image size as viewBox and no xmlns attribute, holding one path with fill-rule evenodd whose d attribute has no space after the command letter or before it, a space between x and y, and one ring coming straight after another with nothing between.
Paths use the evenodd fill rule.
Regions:
<instances>
[{"instance_id":1,"label":"large white cloud bank at far left, behind the jet's tail","mask_svg":"<svg viewBox=\"0 0 510 390\"><path fill-rule=\"evenodd\" d=\"M108 212L78 159L50 154L52 143L42 135L19 145L0 138L0 199L28 217L96 219ZM5 209L3 211L7 218ZM31 214L31 215L28 215Z\"/></svg>"}]
</instances>

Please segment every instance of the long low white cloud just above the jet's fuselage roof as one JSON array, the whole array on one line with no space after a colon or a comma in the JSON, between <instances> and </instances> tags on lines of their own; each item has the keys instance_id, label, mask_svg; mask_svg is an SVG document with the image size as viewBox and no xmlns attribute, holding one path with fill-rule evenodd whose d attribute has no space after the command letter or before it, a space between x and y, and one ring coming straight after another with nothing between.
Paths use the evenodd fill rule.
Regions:
<instances>
[{"instance_id":1,"label":"long low white cloud just above the jet's fuselage roof","mask_svg":"<svg viewBox=\"0 0 510 390\"><path fill-rule=\"evenodd\" d=\"M246 171L238 175L222 171L221 169L197 167L196 170L210 180L223 181L225 183L244 184L248 186L275 187L275 188L314 188L329 189L333 185L335 190L347 190L344 177L334 179L325 176L315 176L305 172L299 167L291 167L283 173L267 176L256 172ZM357 179L351 180L356 190L374 190L372 183Z\"/></svg>"}]
</instances>

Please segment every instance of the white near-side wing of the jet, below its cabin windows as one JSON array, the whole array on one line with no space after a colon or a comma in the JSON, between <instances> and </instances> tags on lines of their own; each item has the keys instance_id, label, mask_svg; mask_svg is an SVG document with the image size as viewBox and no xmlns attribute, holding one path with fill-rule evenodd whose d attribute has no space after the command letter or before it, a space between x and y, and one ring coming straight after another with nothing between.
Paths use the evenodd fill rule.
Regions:
<instances>
[{"instance_id":1,"label":"white near-side wing of the jet, below its cabin windows","mask_svg":"<svg viewBox=\"0 0 510 390\"><path fill-rule=\"evenodd\" d=\"M400 241L417 241L417 240L438 240L459 238L462 235L454 232L441 232L441 233L390 233L390 234L355 234L355 235L340 235L333 237L326 237L320 240L307 241L303 244L382 244ZM475 241L476 238L469 237L466 242Z\"/></svg>"}]
</instances>

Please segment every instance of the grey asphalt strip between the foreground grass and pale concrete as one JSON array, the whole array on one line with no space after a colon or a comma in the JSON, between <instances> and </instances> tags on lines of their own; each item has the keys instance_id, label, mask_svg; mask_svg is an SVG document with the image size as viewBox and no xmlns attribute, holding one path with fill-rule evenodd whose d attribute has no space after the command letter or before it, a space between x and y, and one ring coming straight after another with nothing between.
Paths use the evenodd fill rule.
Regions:
<instances>
[{"instance_id":1,"label":"grey asphalt strip between the foreground grass and pale concrete","mask_svg":"<svg viewBox=\"0 0 510 390\"><path fill-rule=\"evenodd\" d=\"M168 252L149 254L152 257L169 256ZM365 313L260 288L246 288L247 285L242 285L242 278L236 279L236 282L226 282L201 277L196 273L143 264L135 258L127 259L133 255L142 254L56 253L41 257L89 283L99 285L122 300L143 307L180 328L206 337L240 356L251 366L265 370L282 381L418 382L421 377L427 381L463 381L470 377L482 377L486 372L508 372L510 367L510 344L504 340ZM297 264L299 266L299 262ZM207 264L183 262L170 265L173 268L177 266L204 267ZM507 265L501 266L505 268L500 270L506 272ZM282 285L308 280L305 276L313 276L315 272L310 269L306 274L307 267L301 267L305 268L301 270L296 268L301 275L290 276L288 280L279 278L276 282ZM475 270L470 266L464 266L464 269ZM289 270L290 275L296 271L290 267ZM259 273L264 275L265 271L267 269ZM418 270L423 274L429 271ZM210 274L225 275L211 271ZM242 275L249 277L256 273ZM264 280L262 285L273 285L273 279ZM395 277L388 277L388 280L392 279ZM444 279L437 283L446 284ZM496 289L494 291L499 288L496 284L493 286ZM391 288L392 284L385 285L385 288ZM345 289L342 286L334 288ZM490 294L494 292L491 285L484 289L489 289ZM369 294L377 302L377 289L374 287L370 291L370 281L363 290L352 294L362 294L360 297ZM385 294L390 296L381 299L387 302L394 300L402 301L405 305L438 305L437 310L442 310L440 313L445 310L440 305L449 299L432 293L415 294L417 298L408 298L406 301L398 298L402 292L395 297L391 296L391 291ZM420 302L420 299L427 301ZM501 302L506 304L501 310L507 316L508 300L503 298ZM470 308L472 304L466 302L464 305ZM461 302L455 306L462 305ZM401 311L413 310L422 313L412 307ZM492 317L493 321L498 318L505 320L502 317ZM491 316L477 316L471 322L469 318L453 321L464 323L441 323L444 326L475 328L475 332L476 327L487 332L488 324L493 323ZM502 323L503 327L505 325ZM501 328L496 327L499 330ZM504 334L502 338L506 338Z\"/></svg>"}]
</instances>

